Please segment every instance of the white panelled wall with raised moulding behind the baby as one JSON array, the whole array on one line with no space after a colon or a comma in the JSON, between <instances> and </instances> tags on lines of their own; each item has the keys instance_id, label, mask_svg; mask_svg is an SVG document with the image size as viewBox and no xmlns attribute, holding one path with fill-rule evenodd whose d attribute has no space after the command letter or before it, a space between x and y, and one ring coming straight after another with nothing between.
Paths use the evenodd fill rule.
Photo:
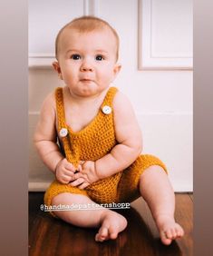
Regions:
<instances>
[{"instance_id":1,"label":"white panelled wall with raised moulding behind the baby","mask_svg":"<svg viewBox=\"0 0 213 256\"><path fill-rule=\"evenodd\" d=\"M149 0L144 1L149 2ZM161 20L162 17L165 19L169 10L158 7L159 2L156 1L150 1L152 6L150 11L155 10L155 14L159 14L158 17L154 16L156 20L157 18ZM166 5L172 1L177 3L178 0L169 2L164 0L162 3ZM192 191L192 70L190 66L192 49L191 43L189 44L191 37L189 33L187 36L183 33L179 52L177 52L177 49L180 49L177 45L179 42L172 42L168 47L164 45L164 49L169 49L169 52L165 53L165 56L160 55L157 64L156 58L152 56L147 63L141 61L144 50L140 47L140 43L142 44L140 35L142 34L142 40L144 40L150 36L150 33L144 33L145 21L142 17L145 15L142 15L142 8L139 19L139 2L138 0L62 0L60 5L57 5L56 1L50 0L29 1L30 190L44 190L53 180L53 174L46 170L34 151L32 136L45 95L53 91L55 87L63 85L51 68L54 36L60 26L73 17L95 12L95 15L106 19L120 34L122 70L114 85L131 99L143 133L144 153L153 153L166 163L175 191ZM140 4L145 2L141 0ZM183 19L186 15L191 15L189 14L190 1L180 2L185 10L185 15L181 12ZM156 11L157 7L160 8L161 13ZM165 14L162 13L163 10L167 10ZM168 18L170 18L169 15ZM50 20L53 21L53 25L50 25ZM165 21L160 23L162 24L166 24ZM179 25L179 22L177 24ZM192 31L190 25L185 25L185 27L185 34L187 31ZM183 30L182 27L181 30ZM154 33L156 27L152 31ZM150 37L151 45L158 45L156 38L156 36ZM168 44L166 34L164 38L165 44ZM170 32L169 38L172 39ZM162 37L160 37L160 42L161 40ZM169 56L172 44L176 49L175 57ZM163 45L162 42L160 45ZM184 45L186 45L185 48ZM158 48L154 49L156 52ZM184 49L187 51L185 55ZM162 47L159 50L161 51Z\"/></svg>"}]
</instances>

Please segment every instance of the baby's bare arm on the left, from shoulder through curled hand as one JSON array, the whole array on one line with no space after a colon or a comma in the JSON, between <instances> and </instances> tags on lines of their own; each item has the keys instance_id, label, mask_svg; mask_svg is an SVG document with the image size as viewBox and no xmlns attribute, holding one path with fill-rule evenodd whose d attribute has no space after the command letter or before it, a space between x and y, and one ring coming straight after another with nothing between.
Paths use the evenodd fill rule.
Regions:
<instances>
[{"instance_id":1,"label":"baby's bare arm on the left, from shoulder through curled hand","mask_svg":"<svg viewBox=\"0 0 213 256\"><path fill-rule=\"evenodd\" d=\"M44 164L55 174L57 180L68 183L75 171L73 164L67 162L57 145L55 129L54 94L44 100L39 122L34 133L34 144Z\"/></svg>"}]
</instances>

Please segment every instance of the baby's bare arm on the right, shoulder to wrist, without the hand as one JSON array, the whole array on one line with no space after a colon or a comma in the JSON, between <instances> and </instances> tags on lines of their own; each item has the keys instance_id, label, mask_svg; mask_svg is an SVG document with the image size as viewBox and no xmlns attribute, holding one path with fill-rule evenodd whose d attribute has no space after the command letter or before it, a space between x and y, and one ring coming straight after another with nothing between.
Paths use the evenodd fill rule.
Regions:
<instances>
[{"instance_id":1,"label":"baby's bare arm on the right, shoulder to wrist, without the hand","mask_svg":"<svg viewBox=\"0 0 213 256\"><path fill-rule=\"evenodd\" d=\"M118 144L101 159L95 162L100 179L120 172L131 165L142 150L140 126L130 101L118 92L113 101L114 129Z\"/></svg>"}]
</instances>

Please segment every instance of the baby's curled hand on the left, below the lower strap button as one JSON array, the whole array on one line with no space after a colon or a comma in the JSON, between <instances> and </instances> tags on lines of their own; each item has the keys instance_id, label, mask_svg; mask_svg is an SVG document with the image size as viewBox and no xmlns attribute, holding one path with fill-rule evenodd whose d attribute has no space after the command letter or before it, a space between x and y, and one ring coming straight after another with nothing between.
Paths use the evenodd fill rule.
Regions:
<instances>
[{"instance_id":1,"label":"baby's curled hand on the left, below the lower strap button","mask_svg":"<svg viewBox=\"0 0 213 256\"><path fill-rule=\"evenodd\" d=\"M55 177L58 182L63 184L67 184L72 180L73 174L75 172L75 168L71 162L68 162L66 158L63 158L60 162L58 162L55 169Z\"/></svg>"}]
</instances>

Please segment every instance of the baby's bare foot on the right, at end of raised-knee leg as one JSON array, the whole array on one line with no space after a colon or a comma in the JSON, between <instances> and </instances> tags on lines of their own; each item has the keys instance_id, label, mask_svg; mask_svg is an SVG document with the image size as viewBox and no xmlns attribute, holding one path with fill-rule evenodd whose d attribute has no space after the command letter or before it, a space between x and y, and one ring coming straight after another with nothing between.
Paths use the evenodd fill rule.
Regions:
<instances>
[{"instance_id":1,"label":"baby's bare foot on the right, at end of raised-knee leg","mask_svg":"<svg viewBox=\"0 0 213 256\"><path fill-rule=\"evenodd\" d=\"M174 218L167 215L160 215L156 219L158 229L160 231L160 239L162 243L169 245L172 240L180 238L184 235L183 229Z\"/></svg>"}]
</instances>

